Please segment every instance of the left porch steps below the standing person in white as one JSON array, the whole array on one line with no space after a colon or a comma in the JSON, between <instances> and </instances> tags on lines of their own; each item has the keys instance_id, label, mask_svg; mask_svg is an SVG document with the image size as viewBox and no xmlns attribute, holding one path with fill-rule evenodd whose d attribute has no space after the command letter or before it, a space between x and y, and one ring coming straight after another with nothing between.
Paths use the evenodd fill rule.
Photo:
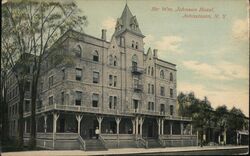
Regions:
<instances>
[{"instance_id":1,"label":"left porch steps below the standing person in white","mask_svg":"<svg viewBox=\"0 0 250 156\"><path fill-rule=\"evenodd\" d=\"M86 151L104 151L107 150L99 139L85 140Z\"/></svg>"}]
</instances>

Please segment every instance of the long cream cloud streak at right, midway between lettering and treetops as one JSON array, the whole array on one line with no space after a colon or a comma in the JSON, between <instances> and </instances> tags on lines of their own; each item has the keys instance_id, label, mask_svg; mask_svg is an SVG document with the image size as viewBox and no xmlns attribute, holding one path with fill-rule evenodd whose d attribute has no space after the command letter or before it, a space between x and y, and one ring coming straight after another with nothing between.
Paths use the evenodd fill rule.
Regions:
<instances>
[{"instance_id":1,"label":"long cream cloud streak at right, midway between lettering and treetops","mask_svg":"<svg viewBox=\"0 0 250 156\"><path fill-rule=\"evenodd\" d=\"M216 64L207 64L198 61L184 61L185 68L195 74L216 80L248 79L248 69L244 66L222 61Z\"/></svg>"}]
</instances>

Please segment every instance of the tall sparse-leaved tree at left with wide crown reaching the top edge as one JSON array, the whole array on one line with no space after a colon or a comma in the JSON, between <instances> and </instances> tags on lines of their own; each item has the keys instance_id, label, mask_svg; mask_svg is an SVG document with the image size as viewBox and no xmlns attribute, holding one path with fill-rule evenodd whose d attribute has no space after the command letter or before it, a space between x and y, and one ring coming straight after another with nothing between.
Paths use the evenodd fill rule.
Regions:
<instances>
[{"instance_id":1,"label":"tall sparse-leaved tree at left with wide crown reaching the top edge","mask_svg":"<svg viewBox=\"0 0 250 156\"><path fill-rule=\"evenodd\" d=\"M31 82L31 139L36 146L36 101L41 63L49 47L70 28L83 31L86 16L81 16L74 2L21 0L10 1L4 6L10 22L11 37L22 53L33 54Z\"/></svg>"}]
</instances>

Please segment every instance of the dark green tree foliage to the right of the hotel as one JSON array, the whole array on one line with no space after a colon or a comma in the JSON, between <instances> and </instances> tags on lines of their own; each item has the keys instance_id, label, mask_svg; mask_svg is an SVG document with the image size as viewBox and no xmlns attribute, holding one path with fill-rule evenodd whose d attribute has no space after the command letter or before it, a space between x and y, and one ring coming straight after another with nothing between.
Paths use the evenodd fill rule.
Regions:
<instances>
[{"instance_id":1,"label":"dark green tree foliage to the right of the hotel","mask_svg":"<svg viewBox=\"0 0 250 156\"><path fill-rule=\"evenodd\" d=\"M177 101L180 108L179 115L192 117L194 128L201 133L210 128L220 132L225 129L235 132L246 125L245 116L240 109L233 107L229 111L226 105L222 105L213 110L207 97L200 100L192 92L180 93Z\"/></svg>"}]
</instances>

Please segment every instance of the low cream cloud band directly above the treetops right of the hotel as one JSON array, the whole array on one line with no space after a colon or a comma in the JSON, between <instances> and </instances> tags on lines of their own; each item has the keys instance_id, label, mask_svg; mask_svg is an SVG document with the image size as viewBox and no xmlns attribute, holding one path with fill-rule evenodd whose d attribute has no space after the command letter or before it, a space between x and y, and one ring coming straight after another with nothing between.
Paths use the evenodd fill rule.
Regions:
<instances>
[{"instance_id":1,"label":"low cream cloud band directly above the treetops right of the hotel","mask_svg":"<svg viewBox=\"0 0 250 156\"><path fill-rule=\"evenodd\" d=\"M213 108L221 105L226 105L228 109L232 107L240 108L243 113L249 116L249 92L248 90L239 91L235 88L230 88L228 86L221 86L218 90L208 90L205 86L201 84L192 83L179 83L179 92L190 92L193 91L195 96L199 99L204 99L205 96L211 102Z\"/></svg>"}]
</instances>

